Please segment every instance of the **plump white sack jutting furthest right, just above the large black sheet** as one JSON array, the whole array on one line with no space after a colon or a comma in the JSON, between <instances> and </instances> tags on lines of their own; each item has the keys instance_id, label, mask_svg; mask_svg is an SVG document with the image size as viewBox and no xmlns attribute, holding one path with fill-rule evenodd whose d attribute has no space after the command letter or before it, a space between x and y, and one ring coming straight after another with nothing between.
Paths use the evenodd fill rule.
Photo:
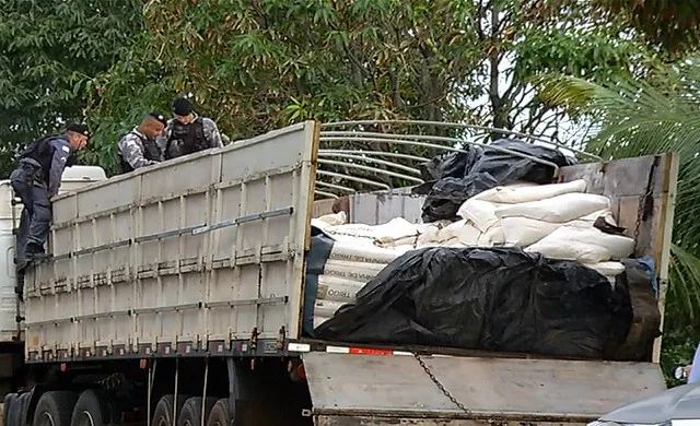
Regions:
<instances>
[{"instance_id":1,"label":"plump white sack jutting furthest right, just above the large black sheet","mask_svg":"<svg viewBox=\"0 0 700 426\"><path fill-rule=\"evenodd\" d=\"M632 238L606 234L594 227L575 226L562 226L525 249L547 258L576 260L582 263L619 260L629 257L632 250Z\"/></svg>"}]
</instances>

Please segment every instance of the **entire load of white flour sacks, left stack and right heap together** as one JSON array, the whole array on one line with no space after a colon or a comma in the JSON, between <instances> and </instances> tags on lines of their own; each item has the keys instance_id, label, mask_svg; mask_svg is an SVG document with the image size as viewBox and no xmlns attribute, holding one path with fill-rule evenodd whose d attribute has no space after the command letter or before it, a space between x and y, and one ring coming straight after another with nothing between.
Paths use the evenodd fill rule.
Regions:
<instances>
[{"instance_id":1,"label":"entire load of white flour sacks, left stack and right heap together","mask_svg":"<svg viewBox=\"0 0 700 426\"><path fill-rule=\"evenodd\" d=\"M343 304L394 259L423 247L522 247L551 259L575 260L611 283L625 271L634 240L594 227L598 217L617 225L610 201L585 193L584 180L535 185L517 182L470 198L460 221L412 224L396 217L382 225L347 224L343 212L312 220L335 240L319 276L314 327Z\"/></svg>"}]
</instances>

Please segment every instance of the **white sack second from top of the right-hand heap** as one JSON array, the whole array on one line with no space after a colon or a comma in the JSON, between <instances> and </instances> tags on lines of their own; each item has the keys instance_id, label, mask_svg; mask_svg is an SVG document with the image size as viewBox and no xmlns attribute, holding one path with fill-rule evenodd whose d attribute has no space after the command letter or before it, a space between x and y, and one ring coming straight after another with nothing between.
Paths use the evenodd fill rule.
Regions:
<instances>
[{"instance_id":1,"label":"white sack second from top of the right-hand heap","mask_svg":"<svg viewBox=\"0 0 700 426\"><path fill-rule=\"evenodd\" d=\"M521 216L565 223L609 208L610 200L607 197L572 192L546 200L502 205L495 210L495 215L500 218Z\"/></svg>"}]
</instances>

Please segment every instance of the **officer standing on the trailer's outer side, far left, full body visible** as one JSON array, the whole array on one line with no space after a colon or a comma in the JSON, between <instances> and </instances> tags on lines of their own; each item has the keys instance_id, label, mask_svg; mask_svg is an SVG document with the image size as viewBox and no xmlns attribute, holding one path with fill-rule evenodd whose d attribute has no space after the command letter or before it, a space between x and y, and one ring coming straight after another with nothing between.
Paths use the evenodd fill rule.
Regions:
<instances>
[{"instance_id":1,"label":"officer standing on the trailer's outer side, far left, full body visible","mask_svg":"<svg viewBox=\"0 0 700 426\"><path fill-rule=\"evenodd\" d=\"M85 126L70 125L66 134L38 139L20 155L20 165L10 175L10 185L24 204L15 246L19 270L44 252L51 221L50 198L58 193L69 157L85 146L89 137Z\"/></svg>"}]
</instances>

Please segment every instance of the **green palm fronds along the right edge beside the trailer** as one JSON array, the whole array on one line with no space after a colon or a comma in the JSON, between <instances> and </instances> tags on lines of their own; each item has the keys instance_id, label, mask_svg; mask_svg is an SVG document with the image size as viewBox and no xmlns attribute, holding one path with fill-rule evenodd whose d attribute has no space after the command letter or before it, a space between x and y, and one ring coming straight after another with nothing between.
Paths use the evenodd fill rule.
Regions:
<instances>
[{"instance_id":1,"label":"green palm fronds along the right edge beside the trailer","mask_svg":"<svg viewBox=\"0 0 700 426\"><path fill-rule=\"evenodd\" d=\"M666 330L679 345L666 346L667 362L687 356L684 339L697 345L700 319L700 58L658 70L649 81L620 79L598 85L552 79L550 102L590 114L599 132L588 150L607 158L676 152L679 177L672 247ZM681 333L678 330L692 331ZM684 338L685 336L685 338ZM670 342L668 342L670 343ZM670 353L668 353L670 351ZM679 352L678 352L679 351ZM685 355L684 355L685 354ZM688 359L685 359L687 362Z\"/></svg>"}]
</instances>

